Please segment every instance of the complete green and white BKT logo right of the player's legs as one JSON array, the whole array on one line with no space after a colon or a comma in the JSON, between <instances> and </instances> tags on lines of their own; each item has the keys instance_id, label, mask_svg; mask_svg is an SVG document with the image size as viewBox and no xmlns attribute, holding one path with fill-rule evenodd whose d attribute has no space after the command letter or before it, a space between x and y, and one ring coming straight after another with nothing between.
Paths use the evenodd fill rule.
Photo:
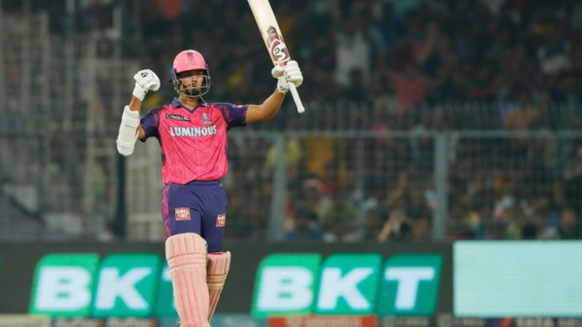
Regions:
<instances>
[{"instance_id":1,"label":"complete green and white BKT logo right of the player's legs","mask_svg":"<svg viewBox=\"0 0 582 327\"><path fill-rule=\"evenodd\" d=\"M432 315L442 255L275 254L257 271L253 315Z\"/></svg>"}]
</instances>

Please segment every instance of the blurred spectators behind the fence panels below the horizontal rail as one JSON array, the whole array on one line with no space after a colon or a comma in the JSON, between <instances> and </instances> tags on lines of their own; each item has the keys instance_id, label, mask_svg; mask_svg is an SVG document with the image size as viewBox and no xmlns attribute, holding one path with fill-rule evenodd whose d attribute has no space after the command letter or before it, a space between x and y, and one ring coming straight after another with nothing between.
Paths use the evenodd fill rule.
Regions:
<instances>
[{"instance_id":1,"label":"blurred spectators behind the fence panels below the horizontal rail","mask_svg":"<svg viewBox=\"0 0 582 327\"><path fill-rule=\"evenodd\" d=\"M447 239L582 237L582 143L524 140L465 138L449 143ZM328 159L308 154L313 141L306 141L306 149L294 148L292 143L301 141L289 141L287 148L296 159L288 159L286 167L287 240L431 239L438 201L433 140L382 141L390 144L370 148L367 155L375 158L365 158L363 176L356 176L358 159L347 150L353 145L349 140L327 140L332 148ZM272 170L268 155L253 149L269 147L268 142L231 145L233 183L225 183L231 197L229 237L268 236ZM414 152L418 157L410 155Z\"/></svg>"}]
</instances>

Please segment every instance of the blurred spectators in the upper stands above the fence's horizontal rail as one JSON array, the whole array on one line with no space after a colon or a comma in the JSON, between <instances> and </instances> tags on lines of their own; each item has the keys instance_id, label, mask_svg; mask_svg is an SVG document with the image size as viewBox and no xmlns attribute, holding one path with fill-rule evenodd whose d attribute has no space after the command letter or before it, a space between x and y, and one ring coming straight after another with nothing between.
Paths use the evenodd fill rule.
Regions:
<instances>
[{"instance_id":1,"label":"blurred spectators in the upper stands above the fence's horizontal rail","mask_svg":"<svg viewBox=\"0 0 582 327\"><path fill-rule=\"evenodd\" d=\"M308 102L339 102L337 115L350 117L352 109L342 103L365 104L361 129L372 128L372 122L410 129L427 121L440 125L428 129L519 129L532 127L536 117L544 118L537 127L551 129L580 123L574 119L579 111L548 112L550 102L577 103L582 97L579 1L275 0L272 5L305 75L301 95ZM272 92L271 64L246 2L150 1L143 13L143 48L136 49L143 63L168 74L168 58L176 49L196 48L208 58L212 98L253 103ZM495 108L438 110L464 102ZM416 108L423 105L432 110Z\"/></svg>"}]
</instances>

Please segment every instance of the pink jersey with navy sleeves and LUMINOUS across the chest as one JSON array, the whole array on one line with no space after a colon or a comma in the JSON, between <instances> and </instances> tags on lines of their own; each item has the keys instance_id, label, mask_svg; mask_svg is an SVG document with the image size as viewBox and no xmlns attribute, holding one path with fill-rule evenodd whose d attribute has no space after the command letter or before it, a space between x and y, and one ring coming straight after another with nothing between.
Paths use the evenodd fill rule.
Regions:
<instances>
[{"instance_id":1,"label":"pink jersey with navy sleeves and LUMINOUS across the chest","mask_svg":"<svg viewBox=\"0 0 582 327\"><path fill-rule=\"evenodd\" d=\"M246 114L246 105L208 104L203 99L190 111L176 98L148 112L141 126L145 138L159 140L164 183L222 179L228 171L226 131L245 126Z\"/></svg>"}]
</instances>

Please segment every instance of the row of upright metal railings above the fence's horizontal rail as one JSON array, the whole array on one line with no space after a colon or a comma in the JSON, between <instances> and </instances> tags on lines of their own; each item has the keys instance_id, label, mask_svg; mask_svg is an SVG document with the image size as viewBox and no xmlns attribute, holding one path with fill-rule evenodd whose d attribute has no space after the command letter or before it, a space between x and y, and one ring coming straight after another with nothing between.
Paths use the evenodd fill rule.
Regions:
<instances>
[{"instance_id":1,"label":"row of upright metal railings above the fence's horizontal rail","mask_svg":"<svg viewBox=\"0 0 582 327\"><path fill-rule=\"evenodd\" d=\"M257 99L257 102L260 99ZM258 130L400 131L400 130L581 130L578 102L466 102L423 104L399 111L395 99L371 102L305 101L297 115L288 108L273 119L250 126Z\"/></svg>"}]
</instances>

